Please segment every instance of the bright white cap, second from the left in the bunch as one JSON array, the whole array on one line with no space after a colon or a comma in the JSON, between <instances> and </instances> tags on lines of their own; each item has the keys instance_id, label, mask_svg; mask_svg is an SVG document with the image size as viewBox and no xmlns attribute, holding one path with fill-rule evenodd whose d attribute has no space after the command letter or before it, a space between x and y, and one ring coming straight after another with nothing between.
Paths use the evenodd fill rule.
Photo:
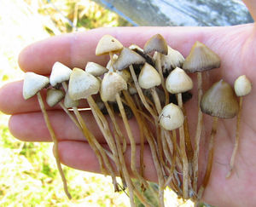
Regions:
<instances>
[{"instance_id":1,"label":"bright white cap, second from the left in the bunch","mask_svg":"<svg viewBox=\"0 0 256 207\"><path fill-rule=\"evenodd\" d=\"M55 86L58 83L68 81L71 72L72 70L69 67L63 65L61 62L55 62L49 76L49 83Z\"/></svg>"}]
</instances>

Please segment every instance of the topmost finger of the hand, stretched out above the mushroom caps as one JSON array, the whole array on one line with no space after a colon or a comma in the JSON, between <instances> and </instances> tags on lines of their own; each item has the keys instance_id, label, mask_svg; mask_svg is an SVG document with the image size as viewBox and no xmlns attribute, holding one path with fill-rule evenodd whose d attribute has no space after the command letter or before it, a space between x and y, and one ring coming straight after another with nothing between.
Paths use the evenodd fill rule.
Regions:
<instances>
[{"instance_id":1,"label":"topmost finger of the hand, stretched out above the mushroom caps","mask_svg":"<svg viewBox=\"0 0 256 207\"><path fill-rule=\"evenodd\" d=\"M149 37L160 33L173 48L183 55L196 40L202 41L212 28L205 27L113 27L99 28L88 32L65 34L50 37L38 43L33 43L22 51L19 58L20 68L25 72L49 74L55 61L73 68L84 68L87 61L106 63L108 55L97 57L96 44L104 34L113 35L126 47L137 43L141 47Z\"/></svg>"}]
</instances>

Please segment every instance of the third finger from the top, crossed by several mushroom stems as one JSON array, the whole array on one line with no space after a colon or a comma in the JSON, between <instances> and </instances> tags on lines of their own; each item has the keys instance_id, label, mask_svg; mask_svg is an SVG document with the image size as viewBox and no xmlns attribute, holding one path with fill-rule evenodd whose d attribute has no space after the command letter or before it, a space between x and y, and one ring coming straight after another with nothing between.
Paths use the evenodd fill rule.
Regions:
<instances>
[{"instance_id":1,"label":"third finger from the top, crossed by several mushroom stems","mask_svg":"<svg viewBox=\"0 0 256 207\"><path fill-rule=\"evenodd\" d=\"M61 110L49 111L49 121L59 140L76 140L84 141L84 135L76 127L65 112ZM90 111L81 112L84 122L88 129L96 136L99 142L105 143L105 139L96 124L95 118ZM106 116L107 117L107 116ZM107 117L108 118L108 117ZM119 127L125 134L125 127L121 118L116 117ZM107 119L109 121L109 119ZM135 119L129 121L135 140L139 142L139 129ZM111 125L110 125L111 126ZM110 128L111 129L111 128ZM44 122L41 112L31 112L26 114L17 114L9 120L9 130L16 138L21 141L51 141L49 130ZM126 138L126 136L125 136ZM128 141L128 138L126 138Z\"/></svg>"}]
</instances>

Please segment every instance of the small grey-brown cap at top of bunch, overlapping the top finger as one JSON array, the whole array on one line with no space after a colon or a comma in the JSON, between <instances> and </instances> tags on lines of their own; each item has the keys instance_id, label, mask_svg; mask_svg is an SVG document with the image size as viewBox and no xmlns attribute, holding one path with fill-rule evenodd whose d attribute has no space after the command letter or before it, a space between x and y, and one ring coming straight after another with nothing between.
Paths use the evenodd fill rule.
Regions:
<instances>
[{"instance_id":1,"label":"small grey-brown cap at top of bunch, overlapping the top finger","mask_svg":"<svg viewBox=\"0 0 256 207\"><path fill-rule=\"evenodd\" d=\"M145 53L151 53L157 51L163 55L168 54L167 43L164 37L160 34L156 34L150 39L148 39L147 43L145 43L143 48Z\"/></svg>"}]
</instances>

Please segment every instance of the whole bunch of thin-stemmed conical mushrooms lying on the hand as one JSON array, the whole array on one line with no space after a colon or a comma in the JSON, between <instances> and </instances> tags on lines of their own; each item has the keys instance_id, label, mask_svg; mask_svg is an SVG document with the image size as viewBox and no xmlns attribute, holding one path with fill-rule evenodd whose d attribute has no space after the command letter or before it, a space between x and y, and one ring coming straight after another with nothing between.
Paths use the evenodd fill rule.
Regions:
<instances>
[{"instance_id":1,"label":"whole bunch of thin-stemmed conical mushrooms lying on the hand","mask_svg":"<svg viewBox=\"0 0 256 207\"><path fill-rule=\"evenodd\" d=\"M55 160L68 198L71 196L61 170L58 141L40 95L41 89L47 89L47 104L61 106L81 130L84 139L96 153L102 173L111 175L114 191L125 191L127 188L131 206L135 206L135 197L145 206L153 206L145 196L145 191L152 194L158 206L165 206L166 187L171 187L183 199L192 198L199 201L212 171L218 118L234 118L238 114L236 145L227 176L231 175L239 141L241 97L251 90L251 83L245 76L236 80L235 90L229 83L220 80L203 94L201 73L220 66L218 55L205 44L196 42L185 59L176 49L167 45L160 34L148 39L143 49L135 44L126 48L116 38L105 35L96 46L96 55L109 55L108 65L88 62L84 69L71 69L61 62L55 62L49 78L27 72L24 79L24 98L38 95L45 123L54 142ZM190 138L189 120L184 107L184 103L191 98L189 91L194 84L186 72L197 73L198 121L194 145ZM240 104L237 96L240 97ZM79 102L85 100L108 148L96 140L93 131L90 131L80 114ZM201 186L198 186L203 113L212 116L213 123L207 170ZM131 118L139 129L140 147L137 147L136 134L129 123ZM121 123L118 119L121 119ZM130 163L125 162L126 139L131 145ZM145 178L146 142L150 147L158 177L157 190L149 185ZM118 183L117 176L121 178L121 184ZM140 183L139 186L132 177Z\"/></svg>"}]
</instances>

